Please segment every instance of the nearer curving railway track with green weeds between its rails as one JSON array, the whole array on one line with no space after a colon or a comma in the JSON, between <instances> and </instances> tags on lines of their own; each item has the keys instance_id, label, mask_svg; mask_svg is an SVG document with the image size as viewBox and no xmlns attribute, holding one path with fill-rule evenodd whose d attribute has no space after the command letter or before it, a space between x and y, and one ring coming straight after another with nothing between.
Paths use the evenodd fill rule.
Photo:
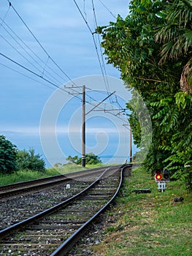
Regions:
<instances>
[{"instance_id":1,"label":"nearer curving railway track with green weeds between its rails","mask_svg":"<svg viewBox=\"0 0 192 256\"><path fill-rule=\"evenodd\" d=\"M66 255L87 226L112 202L122 179L123 168L107 168L82 192L0 230L0 255Z\"/></svg>"}]
</instances>

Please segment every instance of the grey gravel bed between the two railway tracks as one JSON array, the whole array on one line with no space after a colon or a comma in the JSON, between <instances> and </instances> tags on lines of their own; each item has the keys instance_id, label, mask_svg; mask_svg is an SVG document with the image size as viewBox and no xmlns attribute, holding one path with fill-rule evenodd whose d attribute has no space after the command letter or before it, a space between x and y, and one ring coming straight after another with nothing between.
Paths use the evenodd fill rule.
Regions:
<instances>
[{"instance_id":1,"label":"grey gravel bed between the two railway tracks","mask_svg":"<svg viewBox=\"0 0 192 256\"><path fill-rule=\"evenodd\" d=\"M90 182L70 180L55 187L45 187L36 192L2 199L0 230L61 203L88 187L88 184ZM67 189L69 186L70 189Z\"/></svg>"}]
</instances>

